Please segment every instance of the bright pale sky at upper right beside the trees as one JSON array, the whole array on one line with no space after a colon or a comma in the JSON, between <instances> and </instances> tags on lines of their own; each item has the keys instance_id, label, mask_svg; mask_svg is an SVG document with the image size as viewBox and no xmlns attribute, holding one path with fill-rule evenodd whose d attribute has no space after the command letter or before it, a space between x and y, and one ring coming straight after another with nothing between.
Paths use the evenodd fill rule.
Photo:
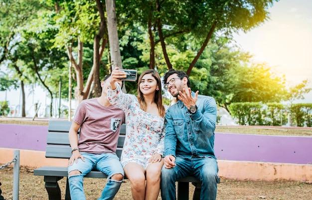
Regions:
<instances>
[{"instance_id":1,"label":"bright pale sky at upper right beside the trees","mask_svg":"<svg viewBox=\"0 0 312 200\"><path fill-rule=\"evenodd\" d=\"M255 61L268 63L277 75L285 74L287 86L308 79L312 88L312 0L280 0L269 12L264 24L234 39ZM312 91L305 97L296 103L312 103Z\"/></svg>"}]
</instances>

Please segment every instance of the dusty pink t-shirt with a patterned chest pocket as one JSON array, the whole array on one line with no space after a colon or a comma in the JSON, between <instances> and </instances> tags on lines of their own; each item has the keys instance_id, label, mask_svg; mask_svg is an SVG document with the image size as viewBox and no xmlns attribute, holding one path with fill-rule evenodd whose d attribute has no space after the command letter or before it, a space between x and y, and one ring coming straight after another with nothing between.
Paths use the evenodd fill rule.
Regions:
<instances>
[{"instance_id":1,"label":"dusty pink t-shirt with a patterned chest pocket","mask_svg":"<svg viewBox=\"0 0 312 200\"><path fill-rule=\"evenodd\" d=\"M83 100L73 121L81 125L78 148L82 153L115 153L125 113L115 106L102 106L98 98Z\"/></svg>"}]
</instances>

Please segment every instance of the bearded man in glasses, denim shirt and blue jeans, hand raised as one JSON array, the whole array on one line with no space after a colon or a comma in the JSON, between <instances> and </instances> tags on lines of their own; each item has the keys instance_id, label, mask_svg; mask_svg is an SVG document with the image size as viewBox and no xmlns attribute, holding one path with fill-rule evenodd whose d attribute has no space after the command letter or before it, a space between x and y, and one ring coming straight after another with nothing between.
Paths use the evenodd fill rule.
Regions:
<instances>
[{"instance_id":1,"label":"bearded man in glasses, denim shirt and blue jeans, hand raised","mask_svg":"<svg viewBox=\"0 0 312 200\"><path fill-rule=\"evenodd\" d=\"M178 101L166 111L161 198L175 200L177 179L194 176L201 182L200 200L215 200L218 164L214 155L217 107L214 98L190 89L183 71L170 69L164 88Z\"/></svg>"}]
</instances>

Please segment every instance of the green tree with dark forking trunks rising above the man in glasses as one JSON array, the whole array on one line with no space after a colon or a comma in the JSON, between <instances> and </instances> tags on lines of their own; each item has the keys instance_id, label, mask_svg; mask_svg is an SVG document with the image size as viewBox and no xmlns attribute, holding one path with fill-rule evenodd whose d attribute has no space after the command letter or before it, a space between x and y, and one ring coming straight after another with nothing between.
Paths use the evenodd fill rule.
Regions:
<instances>
[{"instance_id":1,"label":"green tree with dark forking trunks rising above the man in glasses","mask_svg":"<svg viewBox=\"0 0 312 200\"><path fill-rule=\"evenodd\" d=\"M198 47L186 73L190 75L215 32L231 36L232 32L248 31L268 19L268 7L278 0L119 0L122 19L140 23L150 39L150 68L155 68L155 47L160 43L167 68L172 67L167 46L183 43L183 35L191 34ZM185 43L184 43L185 44ZM180 51L188 45L180 45ZM176 67L176 66L174 66Z\"/></svg>"}]
</instances>

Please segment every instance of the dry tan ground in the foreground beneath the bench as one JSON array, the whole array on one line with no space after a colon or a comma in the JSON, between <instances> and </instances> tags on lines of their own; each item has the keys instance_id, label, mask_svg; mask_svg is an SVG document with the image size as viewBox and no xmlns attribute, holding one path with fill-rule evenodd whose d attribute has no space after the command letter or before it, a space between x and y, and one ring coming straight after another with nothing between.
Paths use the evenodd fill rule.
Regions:
<instances>
[{"instance_id":1,"label":"dry tan ground in the foreground beneath the bench","mask_svg":"<svg viewBox=\"0 0 312 200\"><path fill-rule=\"evenodd\" d=\"M0 186L5 200L12 200L13 168L0 170ZM66 179L59 181L62 199L65 194ZM87 200L97 200L105 186L105 180L86 178L84 189ZM190 184L190 199L194 187ZM128 180L122 184L114 200L131 200ZM218 184L217 200L312 200L312 184L290 181L235 181L221 177ZM42 176L34 176L33 170L21 167L19 174L19 200L48 200ZM161 200L160 195L157 200Z\"/></svg>"}]
</instances>

